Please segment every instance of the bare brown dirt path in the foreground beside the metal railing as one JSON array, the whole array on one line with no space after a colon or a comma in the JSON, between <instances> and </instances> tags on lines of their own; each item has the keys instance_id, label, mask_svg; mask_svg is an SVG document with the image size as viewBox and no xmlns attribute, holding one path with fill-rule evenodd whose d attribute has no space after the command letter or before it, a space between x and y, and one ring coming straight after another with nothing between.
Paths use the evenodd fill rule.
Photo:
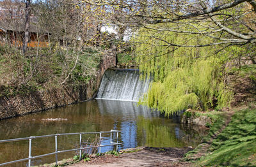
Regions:
<instances>
[{"instance_id":1,"label":"bare brown dirt path in the foreground beside the metal railing","mask_svg":"<svg viewBox=\"0 0 256 167\"><path fill-rule=\"evenodd\" d=\"M191 149L143 147L137 152L123 153L120 154L120 156L109 155L92 158L91 161L80 161L77 164L69 165L69 167L188 166L188 163L182 163L179 161L184 156L184 154L189 150Z\"/></svg>"}]
</instances>

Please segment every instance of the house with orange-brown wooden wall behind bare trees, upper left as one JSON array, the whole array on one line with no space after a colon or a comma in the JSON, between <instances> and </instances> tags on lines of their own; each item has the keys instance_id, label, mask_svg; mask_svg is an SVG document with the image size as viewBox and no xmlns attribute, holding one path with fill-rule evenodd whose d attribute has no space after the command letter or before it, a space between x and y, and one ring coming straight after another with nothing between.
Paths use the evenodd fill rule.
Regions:
<instances>
[{"instance_id":1,"label":"house with orange-brown wooden wall behind bare trees, upper left","mask_svg":"<svg viewBox=\"0 0 256 167\"><path fill-rule=\"evenodd\" d=\"M22 47L24 39L24 3L0 2L0 43ZM28 47L47 47L48 33L38 29L36 18L30 17Z\"/></svg>"}]
</instances>

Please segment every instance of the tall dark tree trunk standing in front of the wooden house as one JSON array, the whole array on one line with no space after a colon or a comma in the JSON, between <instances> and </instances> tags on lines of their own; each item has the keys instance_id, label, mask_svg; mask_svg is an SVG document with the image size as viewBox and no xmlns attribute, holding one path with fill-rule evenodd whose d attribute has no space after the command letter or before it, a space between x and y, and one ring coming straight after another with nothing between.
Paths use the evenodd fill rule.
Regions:
<instances>
[{"instance_id":1,"label":"tall dark tree trunk standing in front of the wooden house","mask_svg":"<svg viewBox=\"0 0 256 167\"><path fill-rule=\"evenodd\" d=\"M26 20L25 20L25 34L24 34L24 41L23 41L23 54L26 54L27 48L28 48L28 41L29 41L29 20L30 20L30 8L31 0L26 0Z\"/></svg>"}]
</instances>

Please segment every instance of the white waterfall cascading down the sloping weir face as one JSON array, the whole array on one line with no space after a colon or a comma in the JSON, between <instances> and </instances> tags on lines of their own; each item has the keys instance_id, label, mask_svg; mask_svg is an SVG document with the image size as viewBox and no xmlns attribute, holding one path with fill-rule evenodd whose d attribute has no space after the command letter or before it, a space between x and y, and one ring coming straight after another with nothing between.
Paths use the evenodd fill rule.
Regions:
<instances>
[{"instance_id":1,"label":"white waterfall cascading down the sloping weir face","mask_svg":"<svg viewBox=\"0 0 256 167\"><path fill-rule=\"evenodd\" d=\"M100 83L97 99L139 101L149 85L150 80L140 80L135 69L108 69Z\"/></svg>"}]
</instances>

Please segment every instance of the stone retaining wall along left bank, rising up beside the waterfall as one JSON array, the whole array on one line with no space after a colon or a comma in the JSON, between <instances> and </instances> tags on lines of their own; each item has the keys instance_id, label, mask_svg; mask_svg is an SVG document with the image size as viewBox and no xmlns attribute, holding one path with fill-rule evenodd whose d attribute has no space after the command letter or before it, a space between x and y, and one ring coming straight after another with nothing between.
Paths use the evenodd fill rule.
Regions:
<instances>
[{"instance_id":1,"label":"stone retaining wall along left bank, rising up beside the waterfall","mask_svg":"<svg viewBox=\"0 0 256 167\"><path fill-rule=\"evenodd\" d=\"M115 66L115 55L106 52L100 61L97 76L86 85L0 98L0 120L92 99L97 95L104 72L113 66Z\"/></svg>"}]
</instances>

